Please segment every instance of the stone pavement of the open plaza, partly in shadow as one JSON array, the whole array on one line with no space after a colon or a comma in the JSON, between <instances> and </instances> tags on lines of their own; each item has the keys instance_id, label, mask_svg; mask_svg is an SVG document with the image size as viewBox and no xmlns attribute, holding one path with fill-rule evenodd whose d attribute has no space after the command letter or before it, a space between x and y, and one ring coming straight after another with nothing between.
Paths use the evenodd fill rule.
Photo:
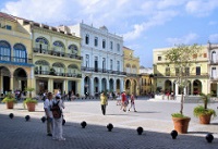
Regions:
<instances>
[{"instance_id":1,"label":"stone pavement of the open plaza, partly in shadow","mask_svg":"<svg viewBox=\"0 0 218 149\"><path fill-rule=\"evenodd\" d=\"M192 119L189 134L179 135L173 140L169 135L173 129L170 114L179 111L179 103L136 100L138 112L135 113L120 111L116 101L109 101L107 115L102 115L97 100L66 101L66 124L63 126L66 140L57 141L46 136L46 123L40 121L43 103L38 103L36 112L27 112L22 103L15 104L13 110L7 110L1 103L0 149L217 149L218 119L214 119L210 125L198 124L192 113L195 105L184 105L184 113ZM209 105L216 107L215 103ZM9 113L14 113L14 119L9 119ZM31 122L24 120L27 114ZM87 122L86 128L81 128L82 121ZM112 132L107 131L108 123L113 124ZM141 136L136 133L138 126L144 128ZM214 133L213 144L205 140L207 133Z\"/></svg>"}]
</instances>

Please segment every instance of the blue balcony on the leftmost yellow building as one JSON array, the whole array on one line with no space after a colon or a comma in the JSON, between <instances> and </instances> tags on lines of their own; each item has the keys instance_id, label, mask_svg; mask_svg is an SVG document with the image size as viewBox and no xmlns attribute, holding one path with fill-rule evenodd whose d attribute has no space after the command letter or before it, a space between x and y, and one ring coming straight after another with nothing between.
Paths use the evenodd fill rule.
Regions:
<instances>
[{"instance_id":1,"label":"blue balcony on the leftmost yellow building","mask_svg":"<svg viewBox=\"0 0 218 149\"><path fill-rule=\"evenodd\" d=\"M27 58L10 57L0 54L0 63L12 64L12 65L24 65L33 66L32 60Z\"/></svg>"}]
</instances>

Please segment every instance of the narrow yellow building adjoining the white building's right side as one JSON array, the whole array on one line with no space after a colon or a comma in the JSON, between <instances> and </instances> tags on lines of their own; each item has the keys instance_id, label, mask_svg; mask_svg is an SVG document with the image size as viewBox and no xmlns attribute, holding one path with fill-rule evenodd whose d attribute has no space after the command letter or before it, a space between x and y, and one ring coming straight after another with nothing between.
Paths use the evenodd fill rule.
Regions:
<instances>
[{"instance_id":1,"label":"narrow yellow building adjoining the white building's right side","mask_svg":"<svg viewBox=\"0 0 218 149\"><path fill-rule=\"evenodd\" d=\"M134 50L123 47L123 67L126 73L124 89L126 94L140 95L140 58L134 57Z\"/></svg>"}]
</instances>

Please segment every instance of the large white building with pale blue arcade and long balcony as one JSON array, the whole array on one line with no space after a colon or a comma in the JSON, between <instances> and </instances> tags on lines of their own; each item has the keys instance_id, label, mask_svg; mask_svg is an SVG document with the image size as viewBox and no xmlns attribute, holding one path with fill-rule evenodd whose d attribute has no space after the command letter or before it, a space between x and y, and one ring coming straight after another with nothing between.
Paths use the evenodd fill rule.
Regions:
<instances>
[{"instance_id":1,"label":"large white building with pale blue arcade and long balcony","mask_svg":"<svg viewBox=\"0 0 218 149\"><path fill-rule=\"evenodd\" d=\"M110 34L106 26L95 28L80 23L69 27L82 38L82 96L105 90L123 91L123 38Z\"/></svg>"}]
</instances>

